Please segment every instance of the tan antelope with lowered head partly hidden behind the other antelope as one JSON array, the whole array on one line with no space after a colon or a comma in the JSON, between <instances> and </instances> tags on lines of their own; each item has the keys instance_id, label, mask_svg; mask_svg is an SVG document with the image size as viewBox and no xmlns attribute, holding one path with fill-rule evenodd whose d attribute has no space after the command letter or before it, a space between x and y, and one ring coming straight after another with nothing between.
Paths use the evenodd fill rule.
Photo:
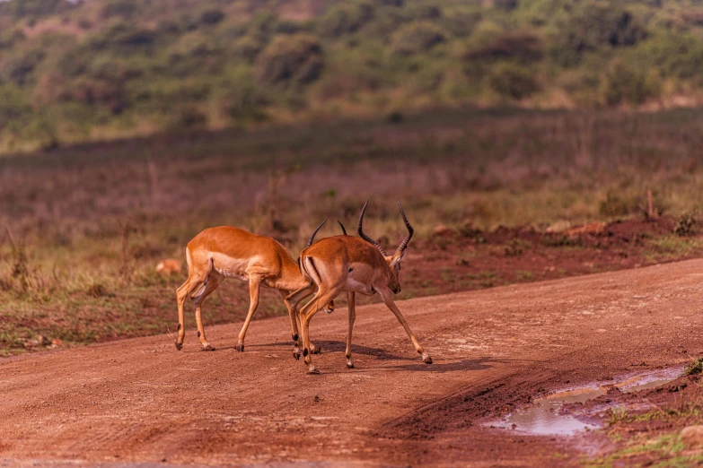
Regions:
<instances>
[{"instance_id":1,"label":"tan antelope with lowered head partly hidden behind the other antelope","mask_svg":"<svg viewBox=\"0 0 703 468\"><path fill-rule=\"evenodd\" d=\"M322 222L324 224L324 222ZM312 234L308 247L320 230L322 224ZM340 223L341 224L341 223ZM344 227L342 227L344 229ZM223 282L224 278L236 278L249 282L250 304L247 317L242 325L236 346L237 351L244 351L244 337L251 322L251 317L259 306L259 289L261 286L278 290L288 309L294 345L294 357L300 358L297 316L286 297L294 292L303 299L314 292L316 286L303 274L295 264L293 256L275 238L259 236L247 230L220 226L209 228L192 238L186 247L188 263L188 280L176 290L178 300L178 339L176 349L183 347L186 330L184 323L184 304L188 296L195 304L198 339L205 351L215 351L205 336L200 308L207 296ZM330 299L325 310L331 313L334 302ZM312 346L314 353L320 348Z\"/></svg>"}]
</instances>

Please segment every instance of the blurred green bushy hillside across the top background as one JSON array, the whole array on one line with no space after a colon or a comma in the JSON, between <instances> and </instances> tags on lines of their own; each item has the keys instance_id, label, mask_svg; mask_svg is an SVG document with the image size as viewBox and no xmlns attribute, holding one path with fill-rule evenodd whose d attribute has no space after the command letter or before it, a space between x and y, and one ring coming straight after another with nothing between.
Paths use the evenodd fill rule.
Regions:
<instances>
[{"instance_id":1,"label":"blurred green bushy hillside across the top background","mask_svg":"<svg viewBox=\"0 0 703 468\"><path fill-rule=\"evenodd\" d=\"M694 105L700 0L10 0L0 152L409 108Z\"/></svg>"}]
</instances>

